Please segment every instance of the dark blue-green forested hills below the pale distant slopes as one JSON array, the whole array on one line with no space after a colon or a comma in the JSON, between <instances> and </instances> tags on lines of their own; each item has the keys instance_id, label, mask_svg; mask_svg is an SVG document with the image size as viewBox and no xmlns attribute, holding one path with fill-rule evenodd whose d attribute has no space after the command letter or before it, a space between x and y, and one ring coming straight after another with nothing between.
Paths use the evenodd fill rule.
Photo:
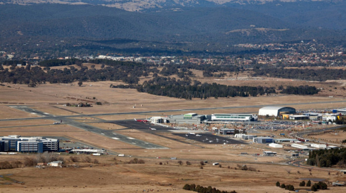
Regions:
<instances>
[{"instance_id":1,"label":"dark blue-green forested hills below the pale distant slopes","mask_svg":"<svg viewBox=\"0 0 346 193\"><path fill-rule=\"evenodd\" d=\"M98 5L2 4L0 48L26 56L42 51L75 54L83 50L91 50L91 54L103 50L102 53L155 55L227 53L239 43L346 39L346 30L302 26L280 18L282 14L271 16L246 8L183 7L130 12ZM340 18L344 15L340 13ZM346 26L342 25L345 21L338 20L338 24Z\"/></svg>"}]
</instances>

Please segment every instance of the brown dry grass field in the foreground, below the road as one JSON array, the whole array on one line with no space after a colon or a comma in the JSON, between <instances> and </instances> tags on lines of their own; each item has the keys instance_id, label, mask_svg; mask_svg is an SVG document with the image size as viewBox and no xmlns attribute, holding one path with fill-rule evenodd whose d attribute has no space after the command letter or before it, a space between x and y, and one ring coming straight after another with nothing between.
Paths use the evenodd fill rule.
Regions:
<instances>
[{"instance_id":1,"label":"brown dry grass field in the foreground, below the road","mask_svg":"<svg viewBox=\"0 0 346 193\"><path fill-rule=\"evenodd\" d=\"M19 158L18 158L19 157ZM200 168L199 162L185 161L180 165L172 160L144 159L144 164L128 164L130 158L111 156L97 157L99 163L74 163L67 161L69 156L62 156L69 167L45 168L25 167L0 170L0 191L16 193L66 192L66 193L135 193L163 192L188 193L182 190L185 184L213 186L220 190L238 193L288 193L275 183L292 184L299 188L301 178L323 178L327 183L346 180L346 175L336 171L312 170L278 164L247 164L253 171L240 170L237 163L220 162L213 166L207 163ZM81 160L84 157L80 156ZM21 159L20 155L7 156L6 160ZM91 157L94 160L95 157ZM159 163L163 164L160 165ZM73 167L73 165L75 165ZM92 165L92 167L89 167ZM229 166L229 168L228 168ZM236 168L236 169L235 169ZM44 180L43 180L44 179ZM13 183L13 180L21 183ZM306 181L306 180L305 180ZM3 185L11 182L12 185ZM312 184L314 182L312 181ZM343 193L344 187L329 186L321 193Z\"/></svg>"}]
</instances>

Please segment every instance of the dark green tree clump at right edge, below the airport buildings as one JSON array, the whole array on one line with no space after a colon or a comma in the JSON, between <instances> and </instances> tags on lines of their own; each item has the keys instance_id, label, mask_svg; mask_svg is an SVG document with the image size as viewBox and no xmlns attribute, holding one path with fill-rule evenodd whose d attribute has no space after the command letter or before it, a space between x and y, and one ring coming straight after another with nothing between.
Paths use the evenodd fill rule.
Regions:
<instances>
[{"instance_id":1,"label":"dark green tree clump at right edge, below the airport buildings","mask_svg":"<svg viewBox=\"0 0 346 193\"><path fill-rule=\"evenodd\" d=\"M318 167L332 167L338 165L345 168L346 166L346 148L330 150L314 150L309 153L308 165Z\"/></svg>"}]
</instances>

